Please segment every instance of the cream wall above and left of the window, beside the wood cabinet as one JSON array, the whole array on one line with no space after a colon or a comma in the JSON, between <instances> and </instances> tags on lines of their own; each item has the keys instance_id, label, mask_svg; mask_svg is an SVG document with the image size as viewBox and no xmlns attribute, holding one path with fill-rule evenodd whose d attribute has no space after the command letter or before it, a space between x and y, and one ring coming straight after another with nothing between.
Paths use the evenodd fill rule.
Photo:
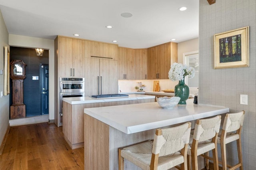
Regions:
<instances>
[{"instance_id":1,"label":"cream wall above and left of the window, beside the wood cabinet","mask_svg":"<svg viewBox=\"0 0 256 170\"><path fill-rule=\"evenodd\" d=\"M198 51L198 38L178 43L178 63L183 63L183 53Z\"/></svg>"}]
</instances>

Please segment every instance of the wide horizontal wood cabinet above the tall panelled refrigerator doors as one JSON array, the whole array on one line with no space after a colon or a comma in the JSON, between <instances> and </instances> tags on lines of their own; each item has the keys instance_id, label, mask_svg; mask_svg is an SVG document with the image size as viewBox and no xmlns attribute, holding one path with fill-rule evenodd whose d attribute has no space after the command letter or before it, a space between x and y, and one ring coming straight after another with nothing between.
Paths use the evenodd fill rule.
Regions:
<instances>
[{"instance_id":1,"label":"wide horizontal wood cabinet above the tall panelled refrigerator doors","mask_svg":"<svg viewBox=\"0 0 256 170\"><path fill-rule=\"evenodd\" d=\"M118 45L85 41L85 57L100 57L105 59L117 60Z\"/></svg>"}]
</instances>

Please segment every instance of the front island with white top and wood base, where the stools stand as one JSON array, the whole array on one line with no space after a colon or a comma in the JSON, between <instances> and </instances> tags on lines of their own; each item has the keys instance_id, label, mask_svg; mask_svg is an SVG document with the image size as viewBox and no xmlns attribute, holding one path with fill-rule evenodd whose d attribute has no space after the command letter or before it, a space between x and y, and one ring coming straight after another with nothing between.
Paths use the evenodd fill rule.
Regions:
<instances>
[{"instance_id":1,"label":"front island with white top and wood base, where the stools stand","mask_svg":"<svg viewBox=\"0 0 256 170\"><path fill-rule=\"evenodd\" d=\"M84 168L117 170L118 148L153 139L156 128L228 112L226 107L194 105L193 99L170 110L157 102L84 109ZM140 168L126 161L125 169Z\"/></svg>"}]
</instances>

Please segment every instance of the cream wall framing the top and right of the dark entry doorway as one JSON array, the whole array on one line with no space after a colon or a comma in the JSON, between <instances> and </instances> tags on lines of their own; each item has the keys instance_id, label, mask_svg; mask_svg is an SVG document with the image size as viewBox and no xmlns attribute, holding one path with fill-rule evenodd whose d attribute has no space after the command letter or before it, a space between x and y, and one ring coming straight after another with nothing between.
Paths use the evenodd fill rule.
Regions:
<instances>
[{"instance_id":1,"label":"cream wall framing the top and right of the dark entry doorway","mask_svg":"<svg viewBox=\"0 0 256 170\"><path fill-rule=\"evenodd\" d=\"M54 40L10 34L9 45L49 49L49 120L54 120Z\"/></svg>"}]
</instances>

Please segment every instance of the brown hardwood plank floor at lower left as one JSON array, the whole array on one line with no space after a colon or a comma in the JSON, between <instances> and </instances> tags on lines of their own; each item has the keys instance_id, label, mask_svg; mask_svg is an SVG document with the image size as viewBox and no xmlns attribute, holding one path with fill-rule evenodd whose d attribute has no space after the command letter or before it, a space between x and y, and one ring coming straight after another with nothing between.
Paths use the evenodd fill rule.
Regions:
<instances>
[{"instance_id":1,"label":"brown hardwood plank floor at lower left","mask_svg":"<svg viewBox=\"0 0 256 170\"><path fill-rule=\"evenodd\" d=\"M84 169L84 148L72 150L62 127L40 123L11 127L0 155L1 170Z\"/></svg>"}]
</instances>

